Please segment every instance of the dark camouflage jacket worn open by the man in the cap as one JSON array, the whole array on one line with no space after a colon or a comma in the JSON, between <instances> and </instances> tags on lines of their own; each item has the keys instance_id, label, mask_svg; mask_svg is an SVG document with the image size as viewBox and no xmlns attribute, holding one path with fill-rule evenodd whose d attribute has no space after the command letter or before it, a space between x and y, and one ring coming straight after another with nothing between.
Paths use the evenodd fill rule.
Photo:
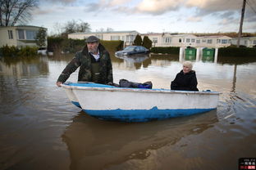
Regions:
<instances>
[{"instance_id":1,"label":"dark camouflage jacket worn open by the man in the cap","mask_svg":"<svg viewBox=\"0 0 256 170\"><path fill-rule=\"evenodd\" d=\"M99 43L98 45L100 60L100 80L99 83L107 84L113 82L112 75L112 62L109 56L109 53ZM85 45L82 51L76 52L75 57L71 60L71 62L66 65L66 68L62 71L62 74L57 78L57 82L66 82L66 79L70 77L70 75L80 67L78 74L78 81L91 82L92 81L92 72L91 72L91 56L89 55L89 51L87 46Z\"/></svg>"}]
</instances>

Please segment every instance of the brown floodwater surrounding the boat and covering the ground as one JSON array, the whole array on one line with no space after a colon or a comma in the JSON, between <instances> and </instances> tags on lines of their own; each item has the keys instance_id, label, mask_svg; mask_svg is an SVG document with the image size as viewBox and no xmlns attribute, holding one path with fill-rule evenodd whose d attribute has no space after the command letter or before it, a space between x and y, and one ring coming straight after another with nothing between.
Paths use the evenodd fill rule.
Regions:
<instances>
[{"instance_id":1,"label":"brown floodwater surrounding the boat and covering the ground","mask_svg":"<svg viewBox=\"0 0 256 170\"><path fill-rule=\"evenodd\" d=\"M256 157L256 56L194 61L199 90L222 92L217 110L149 123L107 122L72 105L55 85L71 58L0 60L0 169L226 170ZM180 61L112 55L114 82L170 88Z\"/></svg>"}]
</instances>

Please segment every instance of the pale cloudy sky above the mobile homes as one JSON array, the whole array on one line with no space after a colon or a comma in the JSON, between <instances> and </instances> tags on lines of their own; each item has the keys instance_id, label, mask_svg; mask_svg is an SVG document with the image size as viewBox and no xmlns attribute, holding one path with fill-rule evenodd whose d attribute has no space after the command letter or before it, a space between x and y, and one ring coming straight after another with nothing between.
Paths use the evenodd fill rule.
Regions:
<instances>
[{"instance_id":1,"label":"pale cloudy sky above the mobile homes","mask_svg":"<svg viewBox=\"0 0 256 170\"><path fill-rule=\"evenodd\" d=\"M92 31L141 34L238 32L243 0L40 0L29 25L57 33L57 25L83 20ZM256 32L256 0L247 0L243 32Z\"/></svg>"}]
</instances>

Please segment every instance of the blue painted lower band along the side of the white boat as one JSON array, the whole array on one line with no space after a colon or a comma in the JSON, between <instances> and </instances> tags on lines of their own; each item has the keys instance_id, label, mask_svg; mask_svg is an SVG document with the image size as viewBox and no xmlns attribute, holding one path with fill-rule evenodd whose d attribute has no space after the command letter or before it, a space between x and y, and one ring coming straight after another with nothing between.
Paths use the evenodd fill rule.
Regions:
<instances>
[{"instance_id":1,"label":"blue painted lower band along the side of the white boat","mask_svg":"<svg viewBox=\"0 0 256 170\"><path fill-rule=\"evenodd\" d=\"M187 109L187 110L158 110L153 107L151 110L84 110L87 114L98 119L123 121L123 122L147 122L151 120L161 120L176 118L192 114L200 114L213 109Z\"/></svg>"}]
</instances>

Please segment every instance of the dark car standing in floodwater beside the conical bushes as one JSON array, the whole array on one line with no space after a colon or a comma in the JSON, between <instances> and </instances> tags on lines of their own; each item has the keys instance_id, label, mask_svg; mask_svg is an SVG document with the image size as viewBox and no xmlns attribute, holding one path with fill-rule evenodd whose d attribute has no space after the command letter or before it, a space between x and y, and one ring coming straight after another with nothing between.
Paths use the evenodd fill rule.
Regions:
<instances>
[{"instance_id":1,"label":"dark car standing in floodwater beside the conical bushes","mask_svg":"<svg viewBox=\"0 0 256 170\"><path fill-rule=\"evenodd\" d=\"M149 50L143 46L128 46L122 51L117 51L116 56L131 56L135 54L149 54Z\"/></svg>"}]
</instances>

